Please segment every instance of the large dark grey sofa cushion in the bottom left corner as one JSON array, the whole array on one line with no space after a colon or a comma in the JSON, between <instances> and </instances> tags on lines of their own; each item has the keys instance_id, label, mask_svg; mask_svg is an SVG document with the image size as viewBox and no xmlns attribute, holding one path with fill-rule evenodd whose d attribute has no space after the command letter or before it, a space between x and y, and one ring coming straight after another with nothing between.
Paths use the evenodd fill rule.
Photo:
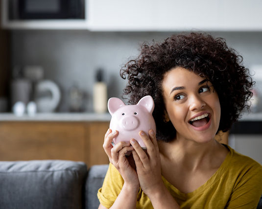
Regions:
<instances>
[{"instance_id":1,"label":"large dark grey sofa cushion in the bottom left corner","mask_svg":"<svg viewBox=\"0 0 262 209\"><path fill-rule=\"evenodd\" d=\"M0 208L80 209L86 175L82 162L0 162Z\"/></svg>"}]
</instances>

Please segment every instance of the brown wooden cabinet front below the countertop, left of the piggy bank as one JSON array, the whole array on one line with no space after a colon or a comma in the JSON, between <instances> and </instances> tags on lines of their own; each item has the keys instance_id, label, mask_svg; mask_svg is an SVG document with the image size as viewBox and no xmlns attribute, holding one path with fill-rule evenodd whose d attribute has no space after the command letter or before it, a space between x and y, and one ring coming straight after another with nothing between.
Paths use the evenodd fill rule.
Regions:
<instances>
[{"instance_id":1,"label":"brown wooden cabinet front below the countertop, left of the piggy bank","mask_svg":"<svg viewBox=\"0 0 262 209\"><path fill-rule=\"evenodd\" d=\"M109 163L102 147L108 127L109 122L1 122L0 161Z\"/></svg>"}]
</instances>

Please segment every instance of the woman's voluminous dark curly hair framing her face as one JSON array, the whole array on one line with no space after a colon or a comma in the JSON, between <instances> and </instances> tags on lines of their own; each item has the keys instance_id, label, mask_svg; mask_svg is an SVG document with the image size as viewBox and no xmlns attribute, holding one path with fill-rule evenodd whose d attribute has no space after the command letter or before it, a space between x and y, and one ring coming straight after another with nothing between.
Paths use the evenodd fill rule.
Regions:
<instances>
[{"instance_id":1,"label":"woman's voluminous dark curly hair framing her face","mask_svg":"<svg viewBox=\"0 0 262 209\"><path fill-rule=\"evenodd\" d=\"M211 81L221 106L218 131L226 132L238 120L240 112L250 107L247 101L252 97L254 82L249 70L241 64L242 56L228 47L224 39L206 33L173 35L163 43L143 43L140 55L120 70L121 77L128 79L123 98L136 104L143 96L151 95L155 101L157 139L166 142L175 139L172 123L163 120L162 80L167 71L182 67Z\"/></svg>"}]
</instances>

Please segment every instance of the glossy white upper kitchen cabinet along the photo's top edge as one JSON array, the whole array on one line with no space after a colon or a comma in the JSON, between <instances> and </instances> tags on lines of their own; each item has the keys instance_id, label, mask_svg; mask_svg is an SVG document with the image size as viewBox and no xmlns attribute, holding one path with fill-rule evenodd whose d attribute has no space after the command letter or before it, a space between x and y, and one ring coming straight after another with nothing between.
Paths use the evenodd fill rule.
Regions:
<instances>
[{"instance_id":1,"label":"glossy white upper kitchen cabinet along the photo's top edge","mask_svg":"<svg viewBox=\"0 0 262 209\"><path fill-rule=\"evenodd\" d=\"M4 8L11 29L262 31L261 0L86 0L84 21L8 21Z\"/></svg>"}]
</instances>

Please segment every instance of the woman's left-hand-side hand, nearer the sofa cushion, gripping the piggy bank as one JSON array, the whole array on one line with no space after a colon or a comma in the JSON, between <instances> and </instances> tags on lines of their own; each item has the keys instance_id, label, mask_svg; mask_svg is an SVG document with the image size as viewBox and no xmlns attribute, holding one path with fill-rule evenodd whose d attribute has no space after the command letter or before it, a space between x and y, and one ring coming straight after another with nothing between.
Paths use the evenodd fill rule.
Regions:
<instances>
[{"instance_id":1,"label":"woman's left-hand-side hand, nearer the sofa cushion, gripping the piggy bank","mask_svg":"<svg viewBox=\"0 0 262 209\"><path fill-rule=\"evenodd\" d=\"M113 139L118 136L118 134L118 131L112 133L112 130L108 129L105 134L103 148L109 158L110 163L112 163L117 168L120 175L124 179L125 186L137 189L138 191L139 181L137 173L126 157L126 154L130 154L134 148L130 146L129 142L124 141L117 143L113 147L111 143Z\"/></svg>"}]
</instances>

